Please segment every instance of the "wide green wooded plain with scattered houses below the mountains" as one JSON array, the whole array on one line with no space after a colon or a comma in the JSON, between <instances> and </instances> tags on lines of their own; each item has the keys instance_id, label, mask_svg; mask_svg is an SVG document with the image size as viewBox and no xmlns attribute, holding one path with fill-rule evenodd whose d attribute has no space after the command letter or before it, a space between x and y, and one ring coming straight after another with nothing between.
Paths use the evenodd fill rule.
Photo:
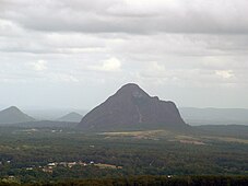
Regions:
<instances>
[{"instance_id":1,"label":"wide green wooded plain with scattered houses below the mountains","mask_svg":"<svg viewBox=\"0 0 248 186\"><path fill-rule=\"evenodd\" d=\"M219 177L226 185L231 175L243 175L247 182L247 140L165 130L84 133L69 128L1 127L0 178L12 184L72 179L84 185L93 179L96 185L128 179L129 185L139 185L134 179L149 177L147 182L164 184L172 175L169 183L191 183L202 178L192 175L226 175Z\"/></svg>"}]
</instances>

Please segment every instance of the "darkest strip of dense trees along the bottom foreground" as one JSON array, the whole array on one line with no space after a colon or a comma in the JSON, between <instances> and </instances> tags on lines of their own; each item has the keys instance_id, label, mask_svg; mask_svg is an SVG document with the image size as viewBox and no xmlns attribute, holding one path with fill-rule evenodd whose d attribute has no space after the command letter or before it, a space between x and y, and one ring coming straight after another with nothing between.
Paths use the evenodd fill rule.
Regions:
<instances>
[{"instance_id":1,"label":"darkest strip of dense trees along the bottom foreground","mask_svg":"<svg viewBox=\"0 0 248 186\"><path fill-rule=\"evenodd\" d=\"M0 186L21 185L1 182ZM139 176L28 183L25 186L248 186L248 176Z\"/></svg>"}]
</instances>

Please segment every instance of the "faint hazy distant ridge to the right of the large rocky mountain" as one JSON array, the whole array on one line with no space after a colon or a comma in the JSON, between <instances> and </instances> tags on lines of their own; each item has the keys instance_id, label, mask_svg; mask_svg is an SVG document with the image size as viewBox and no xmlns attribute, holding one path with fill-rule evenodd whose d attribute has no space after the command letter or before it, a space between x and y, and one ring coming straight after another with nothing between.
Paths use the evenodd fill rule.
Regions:
<instances>
[{"instance_id":1,"label":"faint hazy distant ridge to the right of the large rocky mountain","mask_svg":"<svg viewBox=\"0 0 248 186\"><path fill-rule=\"evenodd\" d=\"M244 108L179 108L190 125L248 125L248 109Z\"/></svg>"}]
</instances>

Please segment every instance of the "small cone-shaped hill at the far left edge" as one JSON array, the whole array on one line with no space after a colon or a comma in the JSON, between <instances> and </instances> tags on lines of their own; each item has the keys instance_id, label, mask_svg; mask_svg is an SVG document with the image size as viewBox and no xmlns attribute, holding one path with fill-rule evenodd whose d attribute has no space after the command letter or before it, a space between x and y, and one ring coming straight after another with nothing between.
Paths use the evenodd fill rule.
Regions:
<instances>
[{"instance_id":1,"label":"small cone-shaped hill at the far left edge","mask_svg":"<svg viewBox=\"0 0 248 186\"><path fill-rule=\"evenodd\" d=\"M34 120L33 117L24 114L15 106L11 106L0 112L0 124L17 124Z\"/></svg>"}]
</instances>

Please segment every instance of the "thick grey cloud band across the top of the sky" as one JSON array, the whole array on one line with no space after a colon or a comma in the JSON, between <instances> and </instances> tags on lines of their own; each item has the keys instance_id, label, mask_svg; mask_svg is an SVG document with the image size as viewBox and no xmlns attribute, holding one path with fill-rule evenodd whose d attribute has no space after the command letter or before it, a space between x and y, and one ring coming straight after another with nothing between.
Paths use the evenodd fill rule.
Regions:
<instances>
[{"instance_id":1,"label":"thick grey cloud band across the top of the sky","mask_svg":"<svg viewBox=\"0 0 248 186\"><path fill-rule=\"evenodd\" d=\"M2 18L45 32L248 33L246 0L4 2Z\"/></svg>"}]
</instances>

